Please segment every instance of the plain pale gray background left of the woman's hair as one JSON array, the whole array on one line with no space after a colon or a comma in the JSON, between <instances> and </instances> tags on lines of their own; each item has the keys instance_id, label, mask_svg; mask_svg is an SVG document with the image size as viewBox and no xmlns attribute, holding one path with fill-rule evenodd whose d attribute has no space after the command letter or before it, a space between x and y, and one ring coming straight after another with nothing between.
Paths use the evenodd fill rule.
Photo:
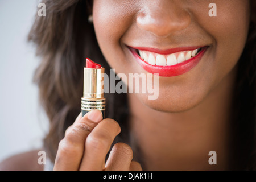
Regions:
<instances>
[{"instance_id":1,"label":"plain pale gray background left of the woman's hair","mask_svg":"<svg viewBox=\"0 0 256 182\"><path fill-rule=\"evenodd\" d=\"M32 83L39 57L27 43L39 3L0 0L0 161L41 147L48 129L38 88Z\"/></svg>"}]
</instances>

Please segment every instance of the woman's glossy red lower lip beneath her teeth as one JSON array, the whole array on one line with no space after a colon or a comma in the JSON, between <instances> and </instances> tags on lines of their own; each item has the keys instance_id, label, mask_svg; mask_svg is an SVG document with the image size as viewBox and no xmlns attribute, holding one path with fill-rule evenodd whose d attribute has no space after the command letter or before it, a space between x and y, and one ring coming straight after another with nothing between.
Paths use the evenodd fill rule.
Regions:
<instances>
[{"instance_id":1,"label":"woman's glossy red lower lip beneath her teeth","mask_svg":"<svg viewBox=\"0 0 256 182\"><path fill-rule=\"evenodd\" d=\"M152 74L158 74L159 76L163 77L171 77L171 76L179 76L182 75L188 71L190 71L192 68L194 68L201 58L204 56L205 51L208 47L203 47L201 51L191 59L184 61L182 63L172 65L172 66L158 66L158 65L151 65L148 64L146 61L142 60L141 57L137 54L135 49L129 48L131 53L135 56L138 63L141 65L141 67L146 70L147 72L150 72Z\"/></svg>"}]
</instances>

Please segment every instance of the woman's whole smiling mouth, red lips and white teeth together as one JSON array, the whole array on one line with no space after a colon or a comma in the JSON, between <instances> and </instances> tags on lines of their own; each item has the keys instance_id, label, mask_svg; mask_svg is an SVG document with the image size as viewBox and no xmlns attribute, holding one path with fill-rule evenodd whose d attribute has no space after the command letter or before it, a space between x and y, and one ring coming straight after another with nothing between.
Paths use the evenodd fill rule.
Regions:
<instances>
[{"instance_id":1,"label":"woman's whole smiling mouth, red lips and white teeth together","mask_svg":"<svg viewBox=\"0 0 256 182\"><path fill-rule=\"evenodd\" d=\"M129 47L135 60L152 74L170 77L179 76L195 67L209 46L183 47L168 50Z\"/></svg>"}]
</instances>

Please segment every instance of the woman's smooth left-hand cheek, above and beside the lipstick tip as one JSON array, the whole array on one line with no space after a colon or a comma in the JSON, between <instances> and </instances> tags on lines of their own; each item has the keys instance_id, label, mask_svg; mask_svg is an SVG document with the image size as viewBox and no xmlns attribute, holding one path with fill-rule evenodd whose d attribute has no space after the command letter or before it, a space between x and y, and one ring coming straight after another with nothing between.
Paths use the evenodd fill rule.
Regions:
<instances>
[{"instance_id":1,"label":"woman's smooth left-hand cheek, above and beside the lipstick tip","mask_svg":"<svg viewBox=\"0 0 256 182\"><path fill-rule=\"evenodd\" d=\"M96 0L93 3L96 38L105 59L116 72L122 70L117 60L125 60L120 39L133 23L134 9L129 3L113 0ZM123 64L127 62L122 61Z\"/></svg>"}]
</instances>

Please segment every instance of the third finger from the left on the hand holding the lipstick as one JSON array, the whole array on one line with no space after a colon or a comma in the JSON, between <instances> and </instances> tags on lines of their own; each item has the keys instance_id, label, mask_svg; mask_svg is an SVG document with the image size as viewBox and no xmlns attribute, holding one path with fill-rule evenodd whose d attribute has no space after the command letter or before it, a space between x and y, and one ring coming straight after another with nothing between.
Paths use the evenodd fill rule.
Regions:
<instances>
[{"instance_id":1,"label":"third finger from the left on the hand holding the lipstick","mask_svg":"<svg viewBox=\"0 0 256 182\"><path fill-rule=\"evenodd\" d=\"M133 150L125 143L117 143L110 151L106 170L109 171L128 171L131 160L133 159Z\"/></svg>"}]
</instances>

